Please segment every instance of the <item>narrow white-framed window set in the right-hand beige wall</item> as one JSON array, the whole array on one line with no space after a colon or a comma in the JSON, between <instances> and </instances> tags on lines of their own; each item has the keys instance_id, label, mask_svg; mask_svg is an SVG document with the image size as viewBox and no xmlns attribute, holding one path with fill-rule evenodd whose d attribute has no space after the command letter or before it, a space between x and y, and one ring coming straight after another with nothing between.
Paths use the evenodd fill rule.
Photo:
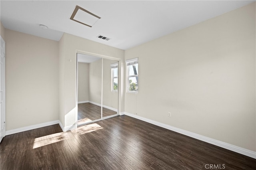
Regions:
<instances>
[{"instance_id":1,"label":"narrow white-framed window set in the right-hand beige wall","mask_svg":"<svg viewBox=\"0 0 256 170\"><path fill-rule=\"evenodd\" d=\"M126 60L127 93L138 93L138 58Z\"/></svg>"}]
</instances>

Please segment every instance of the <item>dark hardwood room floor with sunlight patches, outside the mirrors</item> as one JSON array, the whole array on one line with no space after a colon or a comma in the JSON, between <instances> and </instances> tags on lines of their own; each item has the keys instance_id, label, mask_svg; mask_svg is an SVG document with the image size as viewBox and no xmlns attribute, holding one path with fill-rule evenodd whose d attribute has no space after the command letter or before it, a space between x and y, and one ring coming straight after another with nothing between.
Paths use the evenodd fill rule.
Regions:
<instances>
[{"instance_id":1,"label":"dark hardwood room floor with sunlight patches, outside the mirrors","mask_svg":"<svg viewBox=\"0 0 256 170\"><path fill-rule=\"evenodd\" d=\"M0 146L1 170L256 169L253 158L125 115L68 132L28 130Z\"/></svg>"}]
</instances>

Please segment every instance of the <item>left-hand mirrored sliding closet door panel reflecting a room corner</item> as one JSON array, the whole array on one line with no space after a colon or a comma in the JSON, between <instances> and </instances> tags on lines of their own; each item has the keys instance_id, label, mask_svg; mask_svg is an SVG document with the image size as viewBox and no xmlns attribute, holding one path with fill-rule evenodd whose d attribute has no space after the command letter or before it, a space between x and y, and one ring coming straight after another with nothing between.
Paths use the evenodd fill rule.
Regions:
<instances>
[{"instance_id":1,"label":"left-hand mirrored sliding closet door panel reflecting a room corner","mask_svg":"<svg viewBox=\"0 0 256 170\"><path fill-rule=\"evenodd\" d=\"M77 53L78 125L101 119L102 58Z\"/></svg>"}]
</instances>

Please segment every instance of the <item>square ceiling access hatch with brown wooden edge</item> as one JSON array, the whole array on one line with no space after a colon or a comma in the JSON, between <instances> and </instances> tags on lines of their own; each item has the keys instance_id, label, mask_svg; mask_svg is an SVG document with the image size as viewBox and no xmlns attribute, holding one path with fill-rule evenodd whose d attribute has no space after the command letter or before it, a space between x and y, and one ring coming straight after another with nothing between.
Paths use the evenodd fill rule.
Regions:
<instances>
[{"instance_id":1,"label":"square ceiling access hatch with brown wooden edge","mask_svg":"<svg viewBox=\"0 0 256 170\"><path fill-rule=\"evenodd\" d=\"M78 5L74 9L74 12L70 17L70 20L73 20L88 27L92 27L99 19L99 16L92 14L92 12L89 12L88 10L85 10Z\"/></svg>"}]
</instances>

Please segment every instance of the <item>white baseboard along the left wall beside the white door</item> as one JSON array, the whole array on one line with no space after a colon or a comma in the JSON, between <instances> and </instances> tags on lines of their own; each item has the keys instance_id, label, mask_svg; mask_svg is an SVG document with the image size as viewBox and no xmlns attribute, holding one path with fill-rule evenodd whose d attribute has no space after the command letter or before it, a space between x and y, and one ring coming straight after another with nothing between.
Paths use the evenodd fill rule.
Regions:
<instances>
[{"instance_id":1,"label":"white baseboard along the left wall beside the white door","mask_svg":"<svg viewBox=\"0 0 256 170\"><path fill-rule=\"evenodd\" d=\"M24 132L27 130L32 130L35 128L41 128L41 127L46 127L46 126L50 126L50 125L55 125L55 124L59 124L60 121L51 121L51 122L46 122L46 123L40 123L37 125L31 125L31 126L27 126L27 127L22 127L22 128L16 128L16 129L12 129L12 130L6 130L5 131L5 135L10 135L10 134L14 134L14 133L19 133L19 132Z\"/></svg>"}]
</instances>

